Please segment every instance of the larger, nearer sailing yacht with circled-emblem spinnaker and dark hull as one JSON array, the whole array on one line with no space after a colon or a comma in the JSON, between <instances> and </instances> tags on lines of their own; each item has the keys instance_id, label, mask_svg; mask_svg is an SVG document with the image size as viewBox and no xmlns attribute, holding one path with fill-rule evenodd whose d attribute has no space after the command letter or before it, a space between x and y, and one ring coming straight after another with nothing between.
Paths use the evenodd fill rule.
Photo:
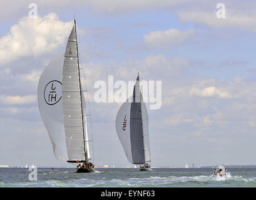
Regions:
<instances>
[{"instance_id":1,"label":"larger, nearer sailing yacht with circled-emblem spinnaker and dark hull","mask_svg":"<svg viewBox=\"0 0 256 200\"><path fill-rule=\"evenodd\" d=\"M79 164L77 173L95 171L89 150L88 116L80 78L76 21L66 51L46 66L38 83L38 105L57 159Z\"/></svg>"}]
</instances>

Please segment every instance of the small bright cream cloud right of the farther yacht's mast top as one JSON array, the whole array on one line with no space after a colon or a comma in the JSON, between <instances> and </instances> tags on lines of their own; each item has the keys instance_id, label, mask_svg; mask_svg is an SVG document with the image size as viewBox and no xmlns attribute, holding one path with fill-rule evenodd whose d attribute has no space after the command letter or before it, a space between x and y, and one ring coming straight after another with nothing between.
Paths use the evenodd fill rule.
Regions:
<instances>
[{"instance_id":1,"label":"small bright cream cloud right of the farther yacht's mast top","mask_svg":"<svg viewBox=\"0 0 256 200\"><path fill-rule=\"evenodd\" d=\"M231 98L231 95L225 91L220 91L220 89L210 86L203 89L192 88L190 89L190 95L192 96L202 96L202 97L218 97L218 98Z\"/></svg>"}]
</instances>

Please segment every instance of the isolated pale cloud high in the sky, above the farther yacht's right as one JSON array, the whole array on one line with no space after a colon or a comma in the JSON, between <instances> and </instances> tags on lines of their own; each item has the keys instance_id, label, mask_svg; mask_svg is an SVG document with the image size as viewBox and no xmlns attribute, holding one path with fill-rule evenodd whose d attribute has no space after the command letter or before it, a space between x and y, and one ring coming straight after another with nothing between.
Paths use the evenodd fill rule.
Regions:
<instances>
[{"instance_id":1,"label":"isolated pale cloud high in the sky, above the farther yacht's right","mask_svg":"<svg viewBox=\"0 0 256 200\"><path fill-rule=\"evenodd\" d=\"M180 31L178 29L168 29L166 31L151 31L143 36L143 40L150 47L172 47L187 40L194 34L192 29Z\"/></svg>"}]
</instances>

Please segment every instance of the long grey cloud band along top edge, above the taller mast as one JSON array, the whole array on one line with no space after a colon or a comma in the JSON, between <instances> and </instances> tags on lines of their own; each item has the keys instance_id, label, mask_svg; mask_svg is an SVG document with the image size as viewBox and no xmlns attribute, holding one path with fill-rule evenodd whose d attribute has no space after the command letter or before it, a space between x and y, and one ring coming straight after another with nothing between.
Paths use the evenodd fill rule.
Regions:
<instances>
[{"instance_id":1,"label":"long grey cloud band along top edge, above the taller mast","mask_svg":"<svg viewBox=\"0 0 256 200\"><path fill-rule=\"evenodd\" d=\"M183 2L189 2L192 0L1 0L0 7L4 8L1 10L0 19L6 19L11 17L19 16L20 14L28 13L28 5L34 2L38 6L38 12L49 12L49 11L66 11L71 9L87 9L91 8L93 11L101 12L105 14L120 14L122 12L138 11L141 9L153 9L153 8L166 8L182 4ZM196 1L196 0L193 0ZM198 1L198 0L197 0ZM206 1L206 0L205 0ZM14 6L15 5L15 6ZM68 12L70 14L70 12ZM72 12L73 13L73 12Z\"/></svg>"}]
</instances>

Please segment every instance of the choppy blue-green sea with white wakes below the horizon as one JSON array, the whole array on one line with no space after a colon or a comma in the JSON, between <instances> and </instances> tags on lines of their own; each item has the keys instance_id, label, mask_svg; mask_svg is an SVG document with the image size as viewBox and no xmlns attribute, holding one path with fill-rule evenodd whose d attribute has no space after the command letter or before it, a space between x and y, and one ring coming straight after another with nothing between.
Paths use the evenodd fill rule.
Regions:
<instances>
[{"instance_id":1,"label":"choppy blue-green sea with white wakes below the horizon","mask_svg":"<svg viewBox=\"0 0 256 200\"><path fill-rule=\"evenodd\" d=\"M75 173L74 168L0 168L0 187L256 187L256 169L232 168L225 178L213 169L100 168L95 173ZM29 181L29 173L34 181Z\"/></svg>"}]
</instances>

